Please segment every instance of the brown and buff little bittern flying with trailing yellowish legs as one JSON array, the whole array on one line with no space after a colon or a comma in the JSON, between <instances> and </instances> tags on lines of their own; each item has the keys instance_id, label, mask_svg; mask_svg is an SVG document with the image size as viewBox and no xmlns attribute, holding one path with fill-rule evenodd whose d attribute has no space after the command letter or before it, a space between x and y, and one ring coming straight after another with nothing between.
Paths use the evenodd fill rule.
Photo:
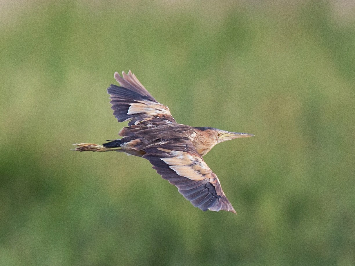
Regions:
<instances>
[{"instance_id":1,"label":"brown and buff little bittern flying with trailing yellowish legs","mask_svg":"<svg viewBox=\"0 0 355 266\"><path fill-rule=\"evenodd\" d=\"M218 177L203 161L214 145L225 140L251 137L212 127L178 124L169 108L156 101L131 71L114 75L121 87L111 84L113 114L119 122L129 121L119 132L121 139L103 145L73 144L77 151L122 151L148 159L153 168L192 205L203 211L234 212ZM108 140L107 140L108 141Z\"/></svg>"}]
</instances>

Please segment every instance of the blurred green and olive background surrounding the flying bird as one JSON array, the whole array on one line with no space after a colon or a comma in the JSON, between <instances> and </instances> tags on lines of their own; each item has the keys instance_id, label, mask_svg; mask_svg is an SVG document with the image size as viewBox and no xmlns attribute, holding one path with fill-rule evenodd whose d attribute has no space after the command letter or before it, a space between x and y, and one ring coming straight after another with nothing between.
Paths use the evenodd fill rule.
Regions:
<instances>
[{"instance_id":1,"label":"blurred green and olive background surrounding the flying bird","mask_svg":"<svg viewBox=\"0 0 355 266\"><path fill-rule=\"evenodd\" d=\"M355 265L351 1L2 1L0 265ZM202 212L117 138L132 70L179 123L255 134L204 157Z\"/></svg>"}]
</instances>

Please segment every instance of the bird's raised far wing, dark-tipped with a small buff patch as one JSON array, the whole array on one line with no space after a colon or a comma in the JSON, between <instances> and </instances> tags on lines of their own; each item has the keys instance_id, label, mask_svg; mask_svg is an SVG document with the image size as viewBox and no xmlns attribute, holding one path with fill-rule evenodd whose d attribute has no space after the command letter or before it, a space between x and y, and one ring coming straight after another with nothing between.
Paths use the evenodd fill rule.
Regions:
<instances>
[{"instance_id":1,"label":"bird's raised far wing, dark-tipped with a small buff patch","mask_svg":"<svg viewBox=\"0 0 355 266\"><path fill-rule=\"evenodd\" d=\"M128 74L122 72L122 77L115 72L115 79L121 87L111 84L107 92L113 114L119 122L131 120L128 126L176 123L169 108L157 102L131 71Z\"/></svg>"}]
</instances>

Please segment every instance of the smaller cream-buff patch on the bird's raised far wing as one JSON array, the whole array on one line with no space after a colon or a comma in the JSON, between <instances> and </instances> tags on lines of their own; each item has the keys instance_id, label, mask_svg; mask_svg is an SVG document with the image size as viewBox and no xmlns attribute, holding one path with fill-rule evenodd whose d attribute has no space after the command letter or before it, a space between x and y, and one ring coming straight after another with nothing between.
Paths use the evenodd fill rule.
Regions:
<instances>
[{"instance_id":1,"label":"smaller cream-buff patch on the bird's raised far wing","mask_svg":"<svg viewBox=\"0 0 355 266\"><path fill-rule=\"evenodd\" d=\"M169 115L170 110L167 106L160 104L159 102L152 101L135 101L130 105L127 115L135 115L137 113L145 113L149 116Z\"/></svg>"}]
</instances>

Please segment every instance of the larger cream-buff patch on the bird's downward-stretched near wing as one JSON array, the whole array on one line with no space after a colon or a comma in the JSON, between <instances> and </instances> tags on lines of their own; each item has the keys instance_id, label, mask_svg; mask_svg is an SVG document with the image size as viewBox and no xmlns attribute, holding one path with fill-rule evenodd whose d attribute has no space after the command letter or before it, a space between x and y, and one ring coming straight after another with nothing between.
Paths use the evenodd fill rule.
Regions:
<instances>
[{"instance_id":1,"label":"larger cream-buff patch on the bird's downward-stretched near wing","mask_svg":"<svg viewBox=\"0 0 355 266\"><path fill-rule=\"evenodd\" d=\"M185 151L172 151L162 148L158 149L173 156L160 158L160 160L163 160L166 164L168 164L169 168L174 170L179 176L183 176L194 181L200 181L206 178L211 180L215 178L215 174L213 174L212 170L200 156L186 153Z\"/></svg>"}]
</instances>

